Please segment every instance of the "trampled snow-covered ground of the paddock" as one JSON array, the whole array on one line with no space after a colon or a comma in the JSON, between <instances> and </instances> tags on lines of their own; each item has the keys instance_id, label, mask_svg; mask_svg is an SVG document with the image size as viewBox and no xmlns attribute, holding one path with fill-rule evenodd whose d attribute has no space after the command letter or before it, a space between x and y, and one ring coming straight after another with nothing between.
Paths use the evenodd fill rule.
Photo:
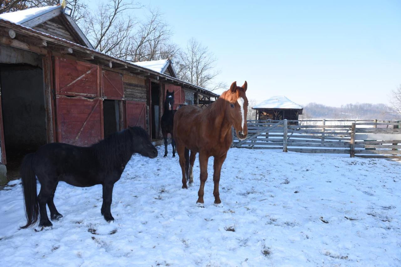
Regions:
<instances>
[{"instance_id":1,"label":"trampled snow-covered ground of the paddock","mask_svg":"<svg viewBox=\"0 0 401 267\"><path fill-rule=\"evenodd\" d=\"M18 230L22 193L10 182L0 191L0 265L401 265L399 162L234 148L223 205L213 204L211 158L202 208L198 160L184 190L178 157L163 150L132 157L114 187L111 224L100 214L101 186L62 182L55 204L64 217L51 230Z\"/></svg>"}]
</instances>

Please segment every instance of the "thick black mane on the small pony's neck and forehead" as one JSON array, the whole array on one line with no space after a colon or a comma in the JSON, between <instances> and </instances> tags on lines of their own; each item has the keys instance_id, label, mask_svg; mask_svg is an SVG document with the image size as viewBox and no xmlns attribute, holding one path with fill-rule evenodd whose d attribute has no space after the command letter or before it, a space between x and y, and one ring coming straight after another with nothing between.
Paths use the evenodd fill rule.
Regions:
<instances>
[{"instance_id":1,"label":"thick black mane on the small pony's neck and forehead","mask_svg":"<svg viewBox=\"0 0 401 267\"><path fill-rule=\"evenodd\" d=\"M125 167L131 155L134 153L132 140L135 137L148 140L149 136L141 127L131 127L123 131L111 134L104 140L91 146L99 166L105 169L106 173L111 172L120 166Z\"/></svg>"}]
</instances>

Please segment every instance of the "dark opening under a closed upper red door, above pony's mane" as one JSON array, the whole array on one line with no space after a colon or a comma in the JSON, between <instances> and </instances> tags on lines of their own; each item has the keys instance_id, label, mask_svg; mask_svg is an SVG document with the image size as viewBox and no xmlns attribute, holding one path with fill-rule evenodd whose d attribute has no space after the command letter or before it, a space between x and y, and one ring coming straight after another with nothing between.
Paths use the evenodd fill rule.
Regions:
<instances>
[{"instance_id":1,"label":"dark opening under a closed upper red door, above pony's mane","mask_svg":"<svg viewBox=\"0 0 401 267\"><path fill-rule=\"evenodd\" d=\"M119 101L118 100L104 100L103 101L103 128L104 138L110 134L120 130L119 127Z\"/></svg>"}]
</instances>

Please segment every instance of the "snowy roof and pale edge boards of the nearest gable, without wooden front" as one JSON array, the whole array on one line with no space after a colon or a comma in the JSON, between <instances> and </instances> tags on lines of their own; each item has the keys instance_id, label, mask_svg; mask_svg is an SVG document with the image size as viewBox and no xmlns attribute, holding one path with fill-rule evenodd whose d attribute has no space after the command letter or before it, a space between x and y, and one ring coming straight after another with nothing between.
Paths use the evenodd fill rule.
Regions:
<instances>
[{"instance_id":1,"label":"snowy roof and pale edge boards of the nearest gable, without wooden front","mask_svg":"<svg viewBox=\"0 0 401 267\"><path fill-rule=\"evenodd\" d=\"M73 18L64 13L64 8L61 5L28 8L25 10L0 14L1 19L8 20L16 24L21 24L29 28L34 28L35 26L38 26L39 24L42 24L43 22L51 20L55 17L61 18L67 30L81 42L80 44L83 44L90 49L94 49L91 42L89 42Z\"/></svg>"}]
</instances>

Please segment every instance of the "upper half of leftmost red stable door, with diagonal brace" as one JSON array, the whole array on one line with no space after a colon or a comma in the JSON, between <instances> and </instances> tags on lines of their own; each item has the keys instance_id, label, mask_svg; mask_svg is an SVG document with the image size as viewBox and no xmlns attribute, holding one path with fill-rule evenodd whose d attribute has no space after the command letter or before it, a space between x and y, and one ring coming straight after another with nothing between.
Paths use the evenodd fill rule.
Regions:
<instances>
[{"instance_id":1,"label":"upper half of leftmost red stable door, with diagonal brace","mask_svg":"<svg viewBox=\"0 0 401 267\"><path fill-rule=\"evenodd\" d=\"M100 68L55 57L55 85L57 95L100 97Z\"/></svg>"}]
</instances>

